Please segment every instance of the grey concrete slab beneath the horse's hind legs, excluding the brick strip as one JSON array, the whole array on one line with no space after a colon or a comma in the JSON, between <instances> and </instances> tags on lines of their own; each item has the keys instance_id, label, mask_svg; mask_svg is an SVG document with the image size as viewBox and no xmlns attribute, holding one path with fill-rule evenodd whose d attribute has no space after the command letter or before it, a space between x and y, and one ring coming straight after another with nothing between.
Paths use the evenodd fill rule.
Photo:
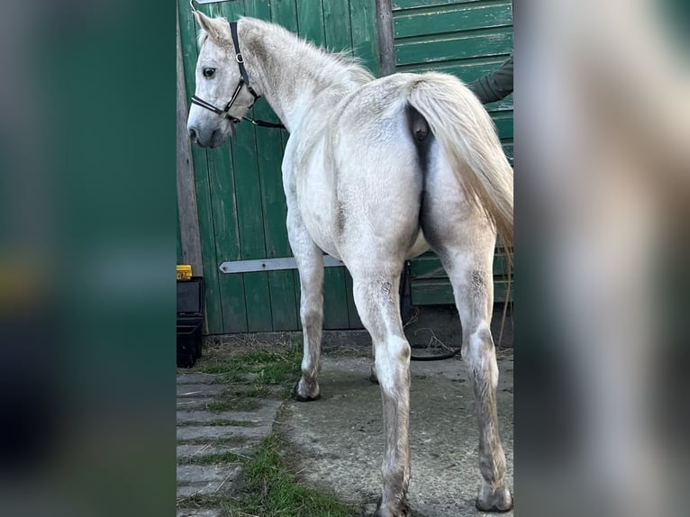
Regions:
<instances>
[{"instance_id":1,"label":"grey concrete slab beneath the horse's hind legs, excluding the brick strip","mask_svg":"<svg viewBox=\"0 0 690 517\"><path fill-rule=\"evenodd\" d=\"M499 428L506 481L513 485L512 352L502 351L498 366ZM287 404L277 431L300 477L373 511L384 438L380 391L369 381L369 367L368 358L336 358L326 351L322 399ZM415 517L477 515L477 420L466 370L459 359L411 366L409 498Z\"/></svg>"}]
</instances>

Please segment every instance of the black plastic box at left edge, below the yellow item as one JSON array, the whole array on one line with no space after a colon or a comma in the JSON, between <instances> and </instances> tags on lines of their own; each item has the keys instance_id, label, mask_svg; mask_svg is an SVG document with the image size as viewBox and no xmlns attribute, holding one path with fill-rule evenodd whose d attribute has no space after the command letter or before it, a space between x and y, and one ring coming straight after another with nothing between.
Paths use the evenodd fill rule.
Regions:
<instances>
[{"instance_id":1,"label":"black plastic box at left edge, below the yellow item","mask_svg":"<svg viewBox=\"0 0 690 517\"><path fill-rule=\"evenodd\" d=\"M204 278L177 280L177 366L193 367L201 357Z\"/></svg>"}]
</instances>

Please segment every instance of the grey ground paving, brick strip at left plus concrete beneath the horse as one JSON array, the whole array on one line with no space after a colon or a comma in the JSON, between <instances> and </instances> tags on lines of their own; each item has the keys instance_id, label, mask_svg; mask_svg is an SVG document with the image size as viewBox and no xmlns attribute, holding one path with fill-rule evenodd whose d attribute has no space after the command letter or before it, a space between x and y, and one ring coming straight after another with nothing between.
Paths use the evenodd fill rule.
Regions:
<instances>
[{"instance_id":1,"label":"grey ground paving, brick strip at left plus concrete beneath the horse","mask_svg":"<svg viewBox=\"0 0 690 517\"><path fill-rule=\"evenodd\" d=\"M350 349L351 351L352 349ZM370 359L325 349L322 399L262 401L256 411L212 413L222 391L215 376L177 376L177 497L233 494L239 464L198 465L190 458L250 455L273 429L286 441L292 470L310 485L336 493L370 516L380 491L383 451L381 397L368 380ZM513 486L513 354L499 351L499 427ZM296 379L295 379L296 380ZM412 363L410 449L414 517L490 515L474 506L479 480L472 388L458 358ZM280 422L276 421L281 408ZM242 425L237 425L239 422ZM246 423L245 423L246 422ZM202 462L204 463L204 462ZM177 517L220 517L216 510L177 509ZM504 515L512 516L513 512ZM314 516L319 517L319 516Z\"/></svg>"}]
</instances>

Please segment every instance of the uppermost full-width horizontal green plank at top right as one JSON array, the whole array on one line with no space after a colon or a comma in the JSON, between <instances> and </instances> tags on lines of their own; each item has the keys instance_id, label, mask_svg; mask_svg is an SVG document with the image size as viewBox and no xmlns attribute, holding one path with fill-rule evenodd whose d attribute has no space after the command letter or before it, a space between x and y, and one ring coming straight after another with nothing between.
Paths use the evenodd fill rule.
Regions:
<instances>
[{"instance_id":1,"label":"uppermost full-width horizontal green plank at top right","mask_svg":"<svg viewBox=\"0 0 690 517\"><path fill-rule=\"evenodd\" d=\"M453 5L451 8L431 7L404 11L394 15L395 38L418 34L464 32L472 29L506 27L513 25L511 2L498 5Z\"/></svg>"}]
</instances>

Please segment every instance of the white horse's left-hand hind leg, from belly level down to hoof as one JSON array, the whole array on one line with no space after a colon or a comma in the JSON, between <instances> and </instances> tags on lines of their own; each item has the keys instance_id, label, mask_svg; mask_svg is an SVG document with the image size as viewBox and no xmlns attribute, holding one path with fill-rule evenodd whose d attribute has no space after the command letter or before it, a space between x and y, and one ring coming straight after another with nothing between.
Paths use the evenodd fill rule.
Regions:
<instances>
[{"instance_id":1,"label":"white horse's left-hand hind leg, from belly level down to hoof","mask_svg":"<svg viewBox=\"0 0 690 517\"><path fill-rule=\"evenodd\" d=\"M357 270L352 277L359 317L371 334L376 350L375 366L383 402L385 449L381 470L384 487L375 516L408 517L411 515L407 503L410 345L404 337L398 311L399 277L383 272L380 276L360 276Z\"/></svg>"}]
</instances>

